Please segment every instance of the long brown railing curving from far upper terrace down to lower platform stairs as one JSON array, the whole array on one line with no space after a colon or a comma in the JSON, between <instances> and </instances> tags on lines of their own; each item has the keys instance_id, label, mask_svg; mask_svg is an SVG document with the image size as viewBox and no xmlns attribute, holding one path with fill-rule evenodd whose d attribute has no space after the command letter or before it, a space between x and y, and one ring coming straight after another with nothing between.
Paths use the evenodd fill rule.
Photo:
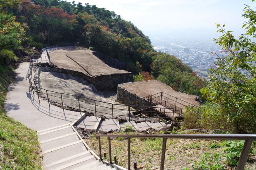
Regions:
<instances>
[{"instance_id":1,"label":"long brown railing curving from far upper terrace down to lower platform stairs","mask_svg":"<svg viewBox=\"0 0 256 170\"><path fill-rule=\"evenodd\" d=\"M61 44L61 45L67 46L67 45L72 45L72 44L69 43L69 44ZM34 62L40 63L40 61L42 63L49 62L50 61L49 52L57 49L58 47L59 47L59 45L54 45L52 47L48 47L48 48L44 49L44 50L46 50L46 54L47 54L46 56L31 55L29 70L28 70L28 74L27 74L27 77L30 82L29 83L30 84L30 93L33 93L33 96L35 96L35 92L36 92L36 95L38 95L39 101L40 101L40 97L39 97L40 95L42 95L42 94L46 95L45 99L48 101L49 108L50 108L50 98L55 97L55 98L59 99L59 103L61 104L63 109L64 109L64 105L66 105L66 106L74 107L74 108L78 109L80 111L80 113L82 112L82 110L92 111L92 112L94 112L95 116L97 116L97 114L106 114L106 115L111 115L112 119L114 119L114 116L126 116L126 117L129 117L129 121L131 121L131 118L133 117L131 112L136 112L136 111L139 112L140 115L144 115L145 121L146 121L146 117L147 117L146 114L157 113L157 111L160 111L160 113L162 113L162 115L160 115L159 113L156 114L156 116L158 116L158 118L159 118L159 121L161 119L165 119L165 118L170 119L171 117L174 118L175 116L181 115L180 113L176 113L174 108L168 106L167 103L166 103L166 105L160 106L160 107L154 106L154 102L150 103L149 105L145 105L145 104L124 105L124 104L108 103L108 102L104 102L104 101L90 99L88 97L84 97L81 95L74 95L74 94L67 94L67 93L51 91L51 90L47 90L47 89L40 87L40 85L35 85L32 82L33 63ZM35 89L35 91L33 89ZM40 93L40 95L39 95L39 93ZM70 103L71 101L73 101L73 103ZM74 101L77 104L74 104ZM152 99L152 101L156 101L156 99L154 98L154 99ZM58 101L55 101L55 102L58 102ZM86 105L86 107L83 107L84 105ZM150 110L150 108L152 108L153 106L154 106L154 110ZM104 108L104 111L102 111L103 108ZM164 112L162 112L163 110L164 110ZM120 114L115 113L115 112L120 112L120 111L127 112L127 115L120 115Z\"/></svg>"}]
</instances>

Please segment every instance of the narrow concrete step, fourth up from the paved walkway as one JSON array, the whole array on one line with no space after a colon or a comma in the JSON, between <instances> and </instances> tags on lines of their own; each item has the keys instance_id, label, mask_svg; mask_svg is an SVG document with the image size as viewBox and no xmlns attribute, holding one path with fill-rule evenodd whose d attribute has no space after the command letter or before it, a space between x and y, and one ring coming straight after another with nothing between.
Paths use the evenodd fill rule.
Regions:
<instances>
[{"instance_id":1,"label":"narrow concrete step, fourth up from the paved walkway","mask_svg":"<svg viewBox=\"0 0 256 170\"><path fill-rule=\"evenodd\" d=\"M67 164L72 164L72 162L75 162L76 160L80 160L87 157L92 158L92 154L90 153L89 150L73 156L68 156L64 159L58 160L57 162L53 162L52 164L50 164L50 166L46 167L45 169L46 170L56 169L58 167L62 167Z\"/></svg>"}]
</instances>

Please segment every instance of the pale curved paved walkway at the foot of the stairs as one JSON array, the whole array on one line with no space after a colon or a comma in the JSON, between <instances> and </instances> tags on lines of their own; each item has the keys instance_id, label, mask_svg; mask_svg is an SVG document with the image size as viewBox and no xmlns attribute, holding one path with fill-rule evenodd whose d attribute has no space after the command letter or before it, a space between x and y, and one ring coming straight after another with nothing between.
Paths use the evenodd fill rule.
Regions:
<instances>
[{"instance_id":1,"label":"pale curved paved walkway at the foot of the stairs","mask_svg":"<svg viewBox=\"0 0 256 170\"><path fill-rule=\"evenodd\" d=\"M21 122L34 130L56 127L72 123L80 113L66 111L60 107L49 105L47 101L29 93L29 83L26 80L29 63L21 63L16 69L16 82L9 86L4 108L9 117Z\"/></svg>"}]
</instances>

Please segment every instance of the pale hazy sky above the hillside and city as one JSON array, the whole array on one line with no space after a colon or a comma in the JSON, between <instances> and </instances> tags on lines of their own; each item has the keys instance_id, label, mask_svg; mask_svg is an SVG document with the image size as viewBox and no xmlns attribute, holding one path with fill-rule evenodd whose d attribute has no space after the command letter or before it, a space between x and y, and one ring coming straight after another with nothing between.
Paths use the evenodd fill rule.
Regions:
<instances>
[{"instance_id":1,"label":"pale hazy sky above the hillside and city","mask_svg":"<svg viewBox=\"0 0 256 170\"><path fill-rule=\"evenodd\" d=\"M218 36L215 23L226 24L228 30L241 34L244 4L256 7L251 0L76 0L78 2L114 11L151 38L163 35L212 38Z\"/></svg>"}]
</instances>

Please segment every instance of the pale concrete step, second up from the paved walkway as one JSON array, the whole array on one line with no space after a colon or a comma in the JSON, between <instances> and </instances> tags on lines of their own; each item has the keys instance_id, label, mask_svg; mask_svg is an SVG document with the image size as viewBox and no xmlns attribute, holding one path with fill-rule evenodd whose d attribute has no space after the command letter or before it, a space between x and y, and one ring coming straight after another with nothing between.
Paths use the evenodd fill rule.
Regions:
<instances>
[{"instance_id":1,"label":"pale concrete step, second up from the paved walkway","mask_svg":"<svg viewBox=\"0 0 256 170\"><path fill-rule=\"evenodd\" d=\"M55 140L50 140L50 141L46 140L46 142L44 142L44 141L41 142L40 145L42 148L42 152L80 140L75 132L70 133L70 134L71 135L68 135L68 136L63 135L64 137L62 137L62 138L59 138L59 137L56 139L54 138Z\"/></svg>"}]
</instances>

